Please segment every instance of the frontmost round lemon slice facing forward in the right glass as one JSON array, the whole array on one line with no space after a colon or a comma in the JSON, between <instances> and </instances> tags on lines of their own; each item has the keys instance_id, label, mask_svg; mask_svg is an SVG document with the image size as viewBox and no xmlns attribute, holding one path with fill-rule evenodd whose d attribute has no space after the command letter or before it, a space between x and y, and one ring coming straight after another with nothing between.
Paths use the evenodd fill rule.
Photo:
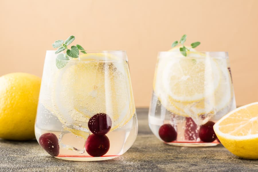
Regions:
<instances>
[{"instance_id":1,"label":"frontmost round lemon slice facing forward in the right glass","mask_svg":"<svg viewBox=\"0 0 258 172\"><path fill-rule=\"evenodd\" d=\"M204 57L205 54L191 52L189 57L165 61L162 82L172 99L195 102L215 92L220 83L220 69L213 59Z\"/></svg>"}]
</instances>

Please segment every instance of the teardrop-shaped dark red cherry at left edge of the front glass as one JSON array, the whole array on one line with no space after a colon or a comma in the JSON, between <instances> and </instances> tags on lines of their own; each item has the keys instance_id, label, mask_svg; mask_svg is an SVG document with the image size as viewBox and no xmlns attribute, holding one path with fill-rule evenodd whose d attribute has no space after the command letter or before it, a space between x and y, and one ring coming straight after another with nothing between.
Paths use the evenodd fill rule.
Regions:
<instances>
[{"instance_id":1,"label":"teardrop-shaped dark red cherry at left edge of the front glass","mask_svg":"<svg viewBox=\"0 0 258 172\"><path fill-rule=\"evenodd\" d=\"M39 138L39 144L51 156L56 157L59 154L58 138L53 133L42 134Z\"/></svg>"}]
</instances>

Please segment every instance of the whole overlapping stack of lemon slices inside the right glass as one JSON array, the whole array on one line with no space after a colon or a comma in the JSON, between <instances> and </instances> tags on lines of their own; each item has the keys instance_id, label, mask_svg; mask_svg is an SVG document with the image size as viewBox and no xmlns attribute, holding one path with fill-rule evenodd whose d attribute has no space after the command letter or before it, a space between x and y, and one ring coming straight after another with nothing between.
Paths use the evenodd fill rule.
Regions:
<instances>
[{"instance_id":1,"label":"whole overlapping stack of lemon slices inside the right glass","mask_svg":"<svg viewBox=\"0 0 258 172\"><path fill-rule=\"evenodd\" d=\"M175 54L160 54L153 88L162 105L174 114L192 117L200 125L225 108L233 96L227 60L212 58L191 49L182 56L179 47Z\"/></svg>"}]
</instances>

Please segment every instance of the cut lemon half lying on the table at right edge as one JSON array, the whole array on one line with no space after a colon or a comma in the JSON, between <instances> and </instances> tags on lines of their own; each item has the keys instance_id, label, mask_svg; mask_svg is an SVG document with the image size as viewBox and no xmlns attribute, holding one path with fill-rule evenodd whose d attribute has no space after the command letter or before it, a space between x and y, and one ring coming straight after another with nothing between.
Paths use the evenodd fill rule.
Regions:
<instances>
[{"instance_id":1,"label":"cut lemon half lying on the table at right edge","mask_svg":"<svg viewBox=\"0 0 258 172\"><path fill-rule=\"evenodd\" d=\"M258 102L239 107L213 126L220 142L242 158L258 159Z\"/></svg>"}]
</instances>

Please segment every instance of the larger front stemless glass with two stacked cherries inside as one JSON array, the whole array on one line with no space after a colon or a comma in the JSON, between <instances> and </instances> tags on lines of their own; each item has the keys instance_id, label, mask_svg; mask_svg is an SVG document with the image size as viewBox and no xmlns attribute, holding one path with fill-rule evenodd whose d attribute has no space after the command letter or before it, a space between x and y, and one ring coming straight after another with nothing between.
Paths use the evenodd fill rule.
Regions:
<instances>
[{"instance_id":1,"label":"larger front stemless glass with two stacked cherries inside","mask_svg":"<svg viewBox=\"0 0 258 172\"><path fill-rule=\"evenodd\" d=\"M138 132L126 51L60 56L66 54L46 52L35 122L39 144L73 161L122 155Z\"/></svg>"}]
</instances>

